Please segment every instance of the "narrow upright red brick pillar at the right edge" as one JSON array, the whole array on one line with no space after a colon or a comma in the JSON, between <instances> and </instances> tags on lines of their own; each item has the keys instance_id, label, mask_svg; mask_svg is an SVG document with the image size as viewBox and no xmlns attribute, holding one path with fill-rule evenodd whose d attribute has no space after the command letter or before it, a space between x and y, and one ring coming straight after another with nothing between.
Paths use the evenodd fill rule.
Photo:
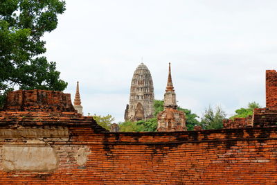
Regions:
<instances>
[{"instance_id":1,"label":"narrow upright red brick pillar at the right edge","mask_svg":"<svg viewBox=\"0 0 277 185\"><path fill-rule=\"evenodd\" d=\"M277 72L275 70L266 71L266 96L267 107L277 108Z\"/></svg>"}]
</instances>

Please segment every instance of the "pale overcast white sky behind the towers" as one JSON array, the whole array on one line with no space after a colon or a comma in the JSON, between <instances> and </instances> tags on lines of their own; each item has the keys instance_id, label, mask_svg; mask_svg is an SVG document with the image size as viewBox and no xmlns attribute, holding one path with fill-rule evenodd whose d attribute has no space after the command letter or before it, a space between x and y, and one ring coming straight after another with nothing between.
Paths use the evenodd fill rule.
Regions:
<instances>
[{"instance_id":1,"label":"pale overcast white sky behind the towers","mask_svg":"<svg viewBox=\"0 0 277 185\"><path fill-rule=\"evenodd\" d=\"M69 0L44 37L46 56L72 100L80 81L85 115L123 121L142 56L156 99L171 62L178 105L199 116L221 105L231 115L252 101L265 107L265 70L277 69L276 10L276 0Z\"/></svg>"}]
</instances>

